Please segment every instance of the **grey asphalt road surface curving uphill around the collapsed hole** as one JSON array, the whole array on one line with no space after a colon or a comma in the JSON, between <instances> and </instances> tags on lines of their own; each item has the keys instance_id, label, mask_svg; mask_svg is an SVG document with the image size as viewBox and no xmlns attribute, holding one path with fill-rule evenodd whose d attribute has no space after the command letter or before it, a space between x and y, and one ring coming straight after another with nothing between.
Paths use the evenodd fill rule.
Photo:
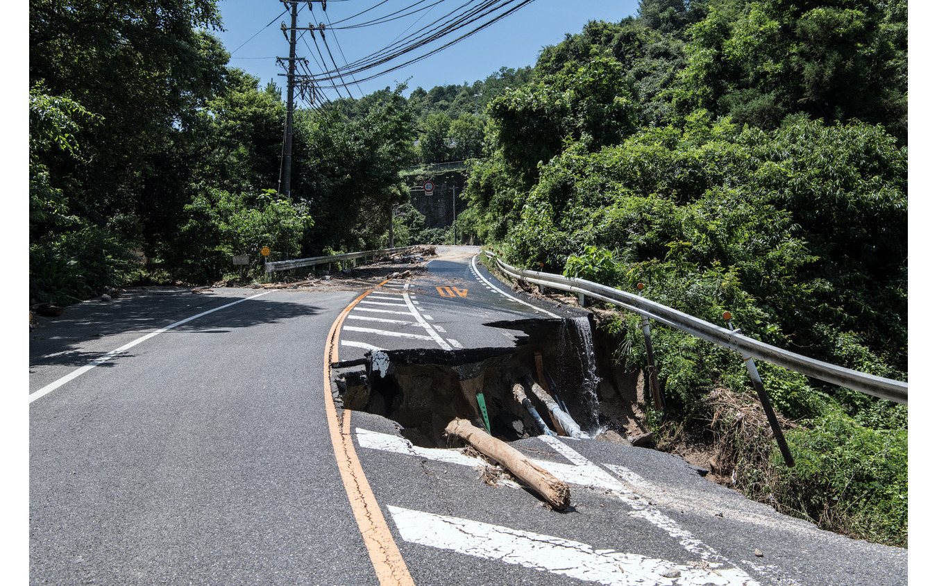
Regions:
<instances>
[{"instance_id":1,"label":"grey asphalt road surface curving uphill around the collapsed hole","mask_svg":"<svg viewBox=\"0 0 937 586\"><path fill-rule=\"evenodd\" d=\"M440 252L347 312L342 360L364 345L512 345L483 323L552 319L556 308L495 291L473 250ZM339 410L330 431L330 328L365 291L128 293L32 332L30 583L907 583L906 550L821 532L653 450L515 443L570 482L573 507L558 513L509 480L485 484L477 460L409 445L378 415ZM338 441L353 446L400 581L376 570Z\"/></svg>"}]
</instances>

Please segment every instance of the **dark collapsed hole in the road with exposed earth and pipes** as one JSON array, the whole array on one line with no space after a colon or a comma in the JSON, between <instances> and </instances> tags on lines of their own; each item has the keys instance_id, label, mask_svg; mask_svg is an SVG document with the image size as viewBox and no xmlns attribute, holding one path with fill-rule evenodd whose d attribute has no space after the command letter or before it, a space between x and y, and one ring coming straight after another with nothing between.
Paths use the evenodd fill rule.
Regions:
<instances>
[{"instance_id":1,"label":"dark collapsed hole in the road with exposed earth and pipes","mask_svg":"<svg viewBox=\"0 0 937 586\"><path fill-rule=\"evenodd\" d=\"M614 348L593 336L590 314L485 325L512 332L513 348L366 353L363 365L336 365L336 404L395 421L415 445L445 447L443 429L455 417L484 428L481 393L492 435L512 442L541 434L514 400L515 383L524 385L543 421L557 431L547 407L530 392L530 383L540 383L590 436L611 431L621 438L634 430L642 417L639 374L614 367Z\"/></svg>"}]
</instances>

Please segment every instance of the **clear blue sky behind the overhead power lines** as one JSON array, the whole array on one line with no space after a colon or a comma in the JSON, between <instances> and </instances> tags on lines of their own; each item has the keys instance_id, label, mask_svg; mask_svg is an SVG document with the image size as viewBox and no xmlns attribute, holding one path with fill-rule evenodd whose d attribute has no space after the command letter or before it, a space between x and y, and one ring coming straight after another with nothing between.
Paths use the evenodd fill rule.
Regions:
<instances>
[{"instance_id":1,"label":"clear blue sky behind the overhead power lines","mask_svg":"<svg viewBox=\"0 0 937 586\"><path fill-rule=\"evenodd\" d=\"M419 23L417 20L423 15L422 12L401 18L394 23L335 30L335 37L332 31L326 31L326 42L332 50L336 63L341 67L345 63L353 63L383 49L393 43L394 39L402 33L404 36L409 35L466 1L443 0L429 14L424 15ZM364 8L373 7L379 2L380 0L327 0L326 16L328 21L337 25L338 21L361 12ZM370 20L367 17L375 18L390 14L414 2L416 0L387 0L378 8L348 23L360 23ZM427 6L433 2L436 0L426 0L421 6ZM423 61L397 69L369 82L352 84L351 96L361 98L387 86L393 89L398 82L408 84L405 95L409 96L409 92L417 87L428 90L436 85L473 83L476 80L483 80L502 67L532 66L536 63L537 55L543 47L557 44L566 33L582 31L583 25L590 20L617 23L628 16L634 16L637 4L637 0L534 0L498 23ZM328 24L326 16L323 16L320 1L313 2L312 18L305 3L299 6L302 10L299 12L298 26L320 22ZM283 4L277 0L220 0L218 8L221 9L226 31L216 33L216 35L232 53L230 65L259 77L261 85L273 79L277 85L285 87L286 78L277 75L283 73L284 70L275 63L275 57L286 57L290 51L289 43L280 30L281 22L290 24L289 14L278 16L285 10ZM272 21L273 24L266 26ZM411 28L408 30L408 27ZM409 53L408 57L419 56L425 52L425 49L448 42L469 28L471 27L441 42L427 45L423 48L424 51L417 50L415 53ZM319 48L331 66L328 53L325 52L321 42ZM319 53L317 53L316 44L311 40L305 38L297 42L297 56L309 59L312 71L320 72L321 63L319 68L315 65L315 62L320 61ZM400 59L383 68L373 69L356 77L363 79L407 60L409 59ZM348 94L342 95L348 97ZM332 90L326 97L335 99L337 94L335 90Z\"/></svg>"}]
</instances>

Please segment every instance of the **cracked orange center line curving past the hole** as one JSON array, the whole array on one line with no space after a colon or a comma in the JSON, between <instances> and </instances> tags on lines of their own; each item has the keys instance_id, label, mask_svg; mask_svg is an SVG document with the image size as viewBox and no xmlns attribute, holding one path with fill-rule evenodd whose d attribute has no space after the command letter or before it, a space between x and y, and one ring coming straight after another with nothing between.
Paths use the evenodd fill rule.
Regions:
<instances>
[{"instance_id":1,"label":"cracked orange center line curving past the hole","mask_svg":"<svg viewBox=\"0 0 937 586\"><path fill-rule=\"evenodd\" d=\"M382 281L378 287L386 283ZM377 287L375 288L377 289ZM404 562L400 550L394 542L394 536L391 534L387 521L380 511L378 500L374 497L374 492L364 476L364 469L361 467L361 461L354 449L354 442L351 439L351 412L343 410L342 420L339 421L338 413L335 410L335 402L332 398L332 367L331 363L338 361L338 333L341 331L342 323L348 316L352 308L358 305L364 297L371 291L362 293L347 308L335 318L332 329L329 330L329 337L325 343L325 364L323 367L323 382L325 388L325 414L329 422L329 435L332 438L332 447L335 450L335 461L338 464L338 472L341 474L342 483L345 485L345 491L349 496L351 511L354 518L358 521L358 529L364 538L364 546L367 548L367 554L374 565L374 571L378 575L380 586L414 586L413 578L410 577L407 563Z\"/></svg>"}]
</instances>

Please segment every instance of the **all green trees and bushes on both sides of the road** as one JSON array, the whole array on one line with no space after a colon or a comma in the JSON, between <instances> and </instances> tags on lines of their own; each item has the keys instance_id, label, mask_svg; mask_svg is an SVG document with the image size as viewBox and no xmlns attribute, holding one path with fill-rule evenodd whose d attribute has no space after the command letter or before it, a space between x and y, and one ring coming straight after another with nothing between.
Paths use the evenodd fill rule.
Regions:
<instances>
[{"instance_id":1,"label":"all green trees and bushes on both sides of the road","mask_svg":"<svg viewBox=\"0 0 937 586\"><path fill-rule=\"evenodd\" d=\"M624 16L624 15L623 15ZM214 0L30 0L30 296L206 283L271 260L436 243L401 171L468 160L459 233L523 268L635 291L746 335L907 380L906 0L644 0L533 68L403 85L295 116L228 65ZM33 303L31 302L31 303ZM644 366L637 318L602 324ZM726 484L907 546L907 409L653 329L648 422L718 447Z\"/></svg>"}]
</instances>

